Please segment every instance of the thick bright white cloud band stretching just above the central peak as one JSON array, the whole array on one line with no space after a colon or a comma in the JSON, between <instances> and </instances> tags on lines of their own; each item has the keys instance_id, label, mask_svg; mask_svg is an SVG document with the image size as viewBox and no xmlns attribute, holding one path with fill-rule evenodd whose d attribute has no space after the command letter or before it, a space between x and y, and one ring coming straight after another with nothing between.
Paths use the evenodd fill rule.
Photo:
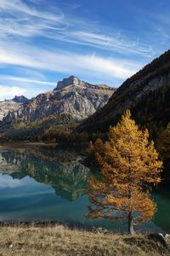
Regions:
<instances>
[{"instance_id":1,"label":"thick bright white cloud band stretching just above the central peak","mask_svg":"<svg viewBox=\"0 0 170 256\"><path fill-rule=\"evenodd\" d=\"M0 64L31 67L60 73L91 73L97 77L126 79L139 63L105 58L95 54L77 54L69 51L47 50L27 44L0 43ZM141 63L140 63L141 64Z\"/></svg>"}]
</instances>

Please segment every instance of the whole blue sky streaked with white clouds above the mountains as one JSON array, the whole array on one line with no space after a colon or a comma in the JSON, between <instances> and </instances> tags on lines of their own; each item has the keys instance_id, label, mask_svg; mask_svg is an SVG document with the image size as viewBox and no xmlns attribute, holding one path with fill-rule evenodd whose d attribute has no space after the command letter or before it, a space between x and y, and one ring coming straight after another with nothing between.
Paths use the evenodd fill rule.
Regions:
<instances>
[{"instance_id":1,"label":"whole blue sky streaked with white clouds above the mountains","mask_svg":"<svg viewBox=\"0 0 170 256\"><path fill-rule=\"evenodd\" d=\"M169 48L169 0L0 0L0 101L71 75L118 87Z\"/></svg>"}]
</instances>

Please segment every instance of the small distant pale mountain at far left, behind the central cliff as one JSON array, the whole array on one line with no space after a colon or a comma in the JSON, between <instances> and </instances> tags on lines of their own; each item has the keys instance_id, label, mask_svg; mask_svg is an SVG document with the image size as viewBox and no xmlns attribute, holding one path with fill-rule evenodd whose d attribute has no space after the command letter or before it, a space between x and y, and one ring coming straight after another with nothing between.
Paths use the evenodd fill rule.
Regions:
<instances>
[{"instance_id":1,"label":"small distant pale mountain at far left, behind the central cliff","mask_svg":"<svg viewBox=\"0 0 170 256\"><path fill-rule=\"evenodd\" d=\"M5 118L8 113L19 110L23 103L28 102L25 96L15 96L12 100L0 102L0 121Z\"/></svg>"}]
</instances>

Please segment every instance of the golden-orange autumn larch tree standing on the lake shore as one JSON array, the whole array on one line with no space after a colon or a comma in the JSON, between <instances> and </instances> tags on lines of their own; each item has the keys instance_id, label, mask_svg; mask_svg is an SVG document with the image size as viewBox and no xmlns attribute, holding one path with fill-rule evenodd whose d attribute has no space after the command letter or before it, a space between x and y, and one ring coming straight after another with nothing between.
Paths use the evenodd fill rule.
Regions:
<instances>
[{"instance_id":1,"label":"golden-orange autumn larch tree standing on the lake shore","mask_svg":"<svg viewBox=\"0 0 170 256\"><path fill-rule=\"evenodd\" d=\"M156 212L147 184L161 182L162 162L148 131L139 131L130 111L110 128L99 164L101 178L88 181L88 217L127 218L133 234L134 224L150 220Z\"/></svg>"}]
</instances>

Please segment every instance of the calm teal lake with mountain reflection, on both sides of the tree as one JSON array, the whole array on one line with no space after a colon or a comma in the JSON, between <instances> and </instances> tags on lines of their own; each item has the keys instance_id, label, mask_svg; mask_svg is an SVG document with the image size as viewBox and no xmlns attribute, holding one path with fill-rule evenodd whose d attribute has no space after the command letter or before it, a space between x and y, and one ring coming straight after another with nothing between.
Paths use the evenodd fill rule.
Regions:
<instances>
[{"instance_id":1,"label":"calm teal lake with mountain reflection, on both sides of the tree","mask_svg":"<svg viewBox=\"0 0 170 256\"><path fill-rule=\"evenodd\" d=\"M80 147L1 147L0 220L54 220L127 231L122 222L86 217L89 202L85 188L93 172L82 165L83 151ZM152 196L156 215L138 229L170 232L169 187L155 189Z\"/></svg>"}]
</instances>

